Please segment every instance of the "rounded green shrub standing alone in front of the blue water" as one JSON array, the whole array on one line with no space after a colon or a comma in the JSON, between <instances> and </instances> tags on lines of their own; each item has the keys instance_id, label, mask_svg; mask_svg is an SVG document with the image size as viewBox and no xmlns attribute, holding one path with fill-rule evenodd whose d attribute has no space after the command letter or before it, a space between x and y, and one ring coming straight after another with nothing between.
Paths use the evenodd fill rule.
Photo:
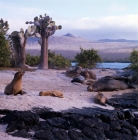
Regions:
<instances>
[{"instance_id":1,"label":"rounded green shrub standing alone in front of the blue water","mask_svg":"<svg viewBox=\"0 0 138 140\"><path fill-rule=\"evenodd\" d=\"M84 50L80 48L80 53L77 53L75 59L79 66L84 68L92 68L97 62L101 62L101 57L98 55L97 51L94 49Z\"/></svg>"}]
</instances>

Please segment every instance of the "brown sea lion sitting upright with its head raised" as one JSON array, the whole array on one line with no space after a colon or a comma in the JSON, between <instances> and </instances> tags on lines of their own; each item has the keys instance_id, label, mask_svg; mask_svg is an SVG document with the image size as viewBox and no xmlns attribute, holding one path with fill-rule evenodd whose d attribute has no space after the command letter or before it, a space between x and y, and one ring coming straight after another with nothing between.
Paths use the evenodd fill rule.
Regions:
<instances>
[{"instance_id":1,"label":"brown sea lion sitting upright with its head raised","mask_svg":"<svg viewBox=\"0 0 138 140\"><path fill-rule=\"evenodd\" d=\"M24 73L25 71L15 73L14 78L11 81L11 83L5 87L4 94L6 95L25 94L25 92L22 91L22 76L24 75Z\"/></svg>"}]
</instances>

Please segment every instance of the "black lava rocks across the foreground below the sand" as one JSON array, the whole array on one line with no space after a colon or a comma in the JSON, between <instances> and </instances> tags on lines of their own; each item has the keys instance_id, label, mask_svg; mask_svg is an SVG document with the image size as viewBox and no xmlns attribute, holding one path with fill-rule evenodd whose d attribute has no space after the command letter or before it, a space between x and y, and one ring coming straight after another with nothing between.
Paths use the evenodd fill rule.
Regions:
<instances>
[{"instance_id":1,"label":"black lava rocks across the foreground below the sand","mask_svg":"<svg viewBox=\"0 0 138 140\"><path fill-rule=\"evenodd\" d=\"M6 133L34 140L138 140L138 91L114 96L114 110L85 107L64 111L33 108L32 111L0 110L8 124Z\"/></svg>"}]
</instances>

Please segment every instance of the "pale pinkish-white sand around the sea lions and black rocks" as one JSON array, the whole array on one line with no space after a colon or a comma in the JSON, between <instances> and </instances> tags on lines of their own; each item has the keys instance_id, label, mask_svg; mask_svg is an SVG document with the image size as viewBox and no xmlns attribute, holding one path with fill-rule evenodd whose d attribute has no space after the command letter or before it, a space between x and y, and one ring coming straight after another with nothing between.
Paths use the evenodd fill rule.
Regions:
<instances>
[{"instance_id":1,"label":"pale pinkish-white sand around the sea lions and black rocks","mask_svg":"<svg viewBox=\"0 0 138 140\"><path fill-rule=\"evenodd\" d=\"M113 109L111 106L103 107L93 103L93 97L97 92L88 92L87 85L72 84L71 78L66 77L63 73L65 70L36 70L33 72L25 72L23 76L23 90L27 92L25 95L5 95L4 88L11 82L16 71L1 70L0 71L0 109L9 110L31 110L33 107L48 107L54 111L67 110L70 108L82 107L102 107ZM116 70L94 69L93 72L98 78L106 75L116 74ZM60 90L64 94L64 98L39 96L42 90ZM109 98L113 94L122 94L130 90L103 92ZM16 140L4 133L6 126L0 125L0 140ZM17 138L18 140L21 138ZM22 139L21 139L22 140Z\"/></svg>"}]
</instances>

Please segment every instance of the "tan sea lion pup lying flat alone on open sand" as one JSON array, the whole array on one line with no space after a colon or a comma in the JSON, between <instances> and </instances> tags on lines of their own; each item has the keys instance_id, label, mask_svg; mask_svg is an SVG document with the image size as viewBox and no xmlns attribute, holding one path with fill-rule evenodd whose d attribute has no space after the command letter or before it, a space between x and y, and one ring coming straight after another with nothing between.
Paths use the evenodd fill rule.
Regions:
<instances>
[{"instance_id":1,"label":"tan sea lion pup lying flat alone on open sand","mask_svg":"<svg viewBox=\"0 0 138 140\"><path fill-rule=\"evenodd\" d=\"M64 98L63 93L59 90L40 91L39 96L55 96Z\"/></svg>"}]
</instances>

